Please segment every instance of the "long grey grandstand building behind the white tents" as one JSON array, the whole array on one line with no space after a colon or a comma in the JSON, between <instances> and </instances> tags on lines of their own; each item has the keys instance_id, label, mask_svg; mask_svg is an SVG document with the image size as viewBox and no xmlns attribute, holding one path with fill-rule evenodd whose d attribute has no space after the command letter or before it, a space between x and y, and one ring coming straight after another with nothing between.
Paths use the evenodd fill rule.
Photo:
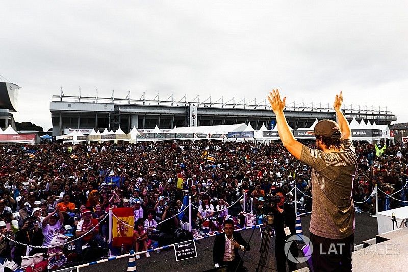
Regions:
<instances>
[{"instance_id":1,"label":"long grey grandstand building behind the white tents","mask_svg":"<svg viewBox=\"0 0 408 272\"><path fill-rule=\"evenodd\" d=\"M198 95L188 100L187 95L174 99L173 94L163 100L159 93L147 98L143 92L140 98L131 98L131 92L125 98L65 95L61 88L59 95L52 96L50 112L53 123L53 135L63 135L68 129L83 129L86 134L92 129L121 129L128 133L133 126L138 130L151 130L156 125L166 131L176 127L228 125L251 122L254 129L267 128L274 122L274 115L266 100L248 101L235 97L214 100L211 96L202 100ZM152 95L151 95L152 96ZM139 96L138 96L139 97ZM344 107L346 118L364 119L380 124L390 124L397 120L387 107L349 105ZM318 119L334 119L335 112L330 103L288 102L285 114L289 125L296 129L309 127Z\"/></svg>"}]
</instances>

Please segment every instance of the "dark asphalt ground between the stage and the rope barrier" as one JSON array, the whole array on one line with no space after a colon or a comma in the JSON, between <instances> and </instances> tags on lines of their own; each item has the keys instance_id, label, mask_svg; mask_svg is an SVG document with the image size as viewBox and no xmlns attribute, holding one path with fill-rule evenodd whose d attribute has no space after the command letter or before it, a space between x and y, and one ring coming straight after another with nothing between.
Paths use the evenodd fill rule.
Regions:
<instances>
[{"instance_id":1,"label":"dark asphalt ground between the stage and the rope barrier","mask_svg":"<svg viewBox=\"0 0 408 272\"><path fill-rule=\"evenodd\" d=\"M309 222L310 216L302 217L303 234L309 236ZM252 230L242 231L242 236L248 241ZM364 240L374 238L378 234L377 230L377 218L370 217L368 214L356 214L355 215L355 244L361 244ZM146 259L144 256L136 262L138 272L148 271L205 271L213 268L212 261L212 248L213 239L208 238L202 240L200 244L197 244L198 257L184 260L175 261L174 250L167 250L160 253L152 253L150 259ZM244 257L244 265L248 268L248 271L254 271L257 267L259 260L259 246L261 243L259 229L256 229L253 238L250 242L252 250L247 252ZM271 239L269 250L269 261L267 263L267 269L264 271L276 271L274 263L274 239ZM81 268L81 272L93 272L93 271L126 271L127 258L109 261L97 265L90 266L88 268ZM304 264L298 265L298 268L305 267Z\"/></svg>"}]
</instances>

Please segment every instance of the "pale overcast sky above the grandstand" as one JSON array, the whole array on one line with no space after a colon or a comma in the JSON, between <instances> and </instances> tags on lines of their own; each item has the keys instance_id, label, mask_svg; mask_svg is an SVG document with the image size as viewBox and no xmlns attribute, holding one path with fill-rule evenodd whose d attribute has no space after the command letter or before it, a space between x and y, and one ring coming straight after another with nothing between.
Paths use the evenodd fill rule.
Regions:
<instances>
[{"instance_id":1,"label":"pale overcast sky above the grandstand","mask_svg":"<svg viewBox=\"0 0 408 272\"><path fill-rule=\"evenodd\" d=\"M313 2L313 3L312 3ZM288 4L289 3L289 4ZM374 105L408 122L407 1L7 1L0 75L18 122L66 95Z\"/></svg>"}]
</instances>

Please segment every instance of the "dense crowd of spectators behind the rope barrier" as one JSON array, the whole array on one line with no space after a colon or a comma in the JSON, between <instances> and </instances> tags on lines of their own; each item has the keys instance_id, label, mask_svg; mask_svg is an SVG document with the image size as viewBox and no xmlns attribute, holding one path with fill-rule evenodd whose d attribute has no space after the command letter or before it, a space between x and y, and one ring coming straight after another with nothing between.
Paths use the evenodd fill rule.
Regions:
<instances>
[{"instance_id":1,"label":"dense crowd of spectators behind the rope barrier","mask_svg":"<svg viewBox=\"0 0 408 272\"><path fill-rule=\"evenodd\" d=\"M389 194L404 187L407 149L403 144L354 144L359 168L353 199L365 201L355 205L356 211L375 212L375 198L370 197L375 184ZM205 150L214 162L206 160ZM290 202L296 186L301 191L298 207L304 211L311 210L313 201L311 168L279 141L16 145L1 147L0 161L0 258L17 264L28 250L14 241L46 246L57 233L70 229L74 237L86 234L68 246L78 256L86 243L107 248L110 208L134 209L134 247L145 250L155 242L171 243L177 229L185 226L188 209L171 218L186 207L184 196L192 196L192 225L198 236L235 218L243 210L244 191L245 209L252 213L278 187ZM182 188L177 188L179 174ZM394 197L401 199L401 192L405 190ZM404 204L391 200L392 208ZM378 201L382 209L384 194L378 194ZM157 225L160 221L163 224ZM29 254L37 252L46 249L32 248Z\"/></svg>"}]
</instances>

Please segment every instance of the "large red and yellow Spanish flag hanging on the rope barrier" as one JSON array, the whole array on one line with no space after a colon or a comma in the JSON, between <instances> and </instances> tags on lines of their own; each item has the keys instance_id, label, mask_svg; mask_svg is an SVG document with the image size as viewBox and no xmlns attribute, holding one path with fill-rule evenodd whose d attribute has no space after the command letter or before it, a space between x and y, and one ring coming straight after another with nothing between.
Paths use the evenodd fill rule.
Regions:
<instances>
[{"instance_id":1,"label":"large red and yellow Spanish flag hanging on the rope barrier","mask_svg":"<svg viewBox=\"0 0 408 272\"><path fill-rule=\"evenodd\" d=\"M112 213L112 245L116 247L122 246L122 244L132 245L133 226L135 224L133 208L117 208L113 209Z\"/></svg>"}]
</instances>

